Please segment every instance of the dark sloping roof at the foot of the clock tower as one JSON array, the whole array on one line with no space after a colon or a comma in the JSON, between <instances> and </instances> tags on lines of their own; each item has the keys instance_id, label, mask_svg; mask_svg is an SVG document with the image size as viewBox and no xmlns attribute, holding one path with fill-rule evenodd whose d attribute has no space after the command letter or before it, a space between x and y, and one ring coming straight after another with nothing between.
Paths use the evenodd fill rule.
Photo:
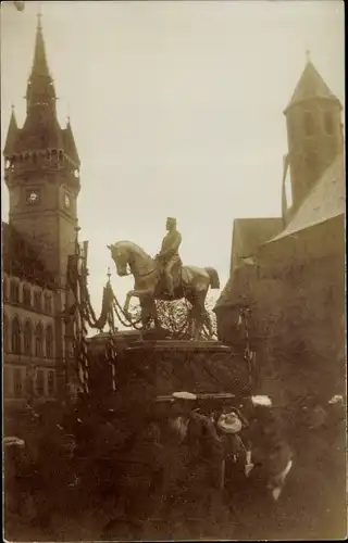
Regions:
<instances>
[{"instance_id":1,"label":"dark sloping roof at the foot of the clock tower","mask_svg":"<svg viewBox=\"0 0 348 543\"><path fill-rule=\"evenodd\" d=\"M48 272L35 249L8 223L2 223L3 270L10 276L54 288L54 276Z\"/></svg>"}]
</instances>

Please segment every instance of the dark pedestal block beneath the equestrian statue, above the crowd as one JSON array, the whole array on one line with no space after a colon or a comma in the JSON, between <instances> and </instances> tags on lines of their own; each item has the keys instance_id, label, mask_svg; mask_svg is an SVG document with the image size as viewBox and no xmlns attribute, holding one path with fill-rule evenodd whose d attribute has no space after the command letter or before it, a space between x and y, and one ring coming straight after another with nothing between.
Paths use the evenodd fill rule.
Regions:
<instances>
[{"instance_id":1,"label":"dark pedestal block beneath the equestrian statue, above the crowd","mask_svg":"<svg viewBox=\"0 0 348 543\"><path fill-rule=\"evenodd\" d=\"M89 342L90 390L111 391L111 366L105 359L108 336ZM196 394L251 394L247 361L232 346L219 341L139 340L114 336L117 356L114 382L129 397L171 395L176 391Z\"/></svg>"}]
</instances>

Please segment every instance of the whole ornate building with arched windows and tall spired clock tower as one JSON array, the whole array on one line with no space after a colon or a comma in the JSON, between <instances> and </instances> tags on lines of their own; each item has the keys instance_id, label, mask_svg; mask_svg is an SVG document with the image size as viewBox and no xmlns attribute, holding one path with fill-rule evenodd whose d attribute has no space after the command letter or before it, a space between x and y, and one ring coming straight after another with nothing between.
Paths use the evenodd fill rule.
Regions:
<instances>
[{"instance_id":1,"label":"whole ornate building with arched windows and tall spired clock tower","mask_svg":"<svg viewBox=\"0 0 348 543\"><path fill-rule=\"evenodd\" d=\"M26 89L26 118L12 110L3 150L9 224L3 236L4 397L21 403L29 388L54 396L64 382L62 312L67 257L77 226L79 157L67 123L57 118L40 17Z\"/></svg>"}]
</instances>

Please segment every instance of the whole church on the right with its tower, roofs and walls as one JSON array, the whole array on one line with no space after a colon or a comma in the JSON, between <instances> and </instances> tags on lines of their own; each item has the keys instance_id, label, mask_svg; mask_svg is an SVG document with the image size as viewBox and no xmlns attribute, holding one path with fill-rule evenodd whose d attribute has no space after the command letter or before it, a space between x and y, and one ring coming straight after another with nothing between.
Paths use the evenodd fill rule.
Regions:
<instances>
[{"instance_id":1,"label":"whole church on the right with its tower, roofs and walls","mask_svg":"<svg viewBox=\"0 0 348 543\"><path fill-rule=\"evenodd\" d=\"M231 278L215 306L220 337L233 341L238 333L238 308L251 307L259 362L266 370L264 386L274 386L273 390L284 390L279 381L286 382L287 392L291 388L297 393L343 390L345 157L340 112L339 100L308 60L284 112L288 153L283 216L234 222ZM288 173L290 206L284 201ZM281 376L278 380L275 375Z\"/></svg>"}]
</instances>

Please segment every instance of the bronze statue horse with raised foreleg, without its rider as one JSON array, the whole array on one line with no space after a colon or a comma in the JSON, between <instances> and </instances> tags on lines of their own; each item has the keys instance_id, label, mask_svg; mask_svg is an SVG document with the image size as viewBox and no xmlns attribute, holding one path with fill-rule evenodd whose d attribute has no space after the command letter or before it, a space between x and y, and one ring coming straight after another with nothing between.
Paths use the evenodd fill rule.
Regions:
<instances>
[{"instance_id":1,"label":"bronze statue horse with raised foreleg, without its rider","mask_svg":"<svg viewBox=\"0 0 348 543\"><path fill-rule=\"evenodd\" d=\"M209 288L220 288L220 279L215 269L178 264L173 269L174 295L171 296L166 293L164 287L163 270L160 263L149 256L140 247L132 241L119 241L107 247L111 251L117 274L120 276L129 275L129 268L130 275L135 279L135 288L127 293L124 304L124 313L128 318L130 318L130 299L136 296L140 302L144 327L148 328L151 320L153 320L156 328L160 331L162 328L157 313L156 300L172 301L185 298L192 307L194 329L191 334L194 339L199 339L204 324L211 332L210 319L204 304Z\"/></svg>"}]
</instances>

